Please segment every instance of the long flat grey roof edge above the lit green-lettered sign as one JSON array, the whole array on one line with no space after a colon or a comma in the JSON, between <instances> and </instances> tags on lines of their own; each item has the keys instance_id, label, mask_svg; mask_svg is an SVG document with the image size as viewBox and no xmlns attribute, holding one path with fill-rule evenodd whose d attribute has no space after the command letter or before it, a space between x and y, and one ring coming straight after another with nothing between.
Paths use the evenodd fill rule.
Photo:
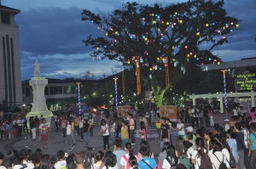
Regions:
<instances>
[{"instance_id":1,"label":"long flat grey roof edge above the lit green-lettered sign","mask_svg":"<svg viewBox=\"0 0 256 169\"><path fill-rule=\"evenodd\" d=\"M227 70L241 67L256 66L256 58L247 58L230 62L223 62L218 65L200 65L202 70Z\"/></svg>"}]
</instances>

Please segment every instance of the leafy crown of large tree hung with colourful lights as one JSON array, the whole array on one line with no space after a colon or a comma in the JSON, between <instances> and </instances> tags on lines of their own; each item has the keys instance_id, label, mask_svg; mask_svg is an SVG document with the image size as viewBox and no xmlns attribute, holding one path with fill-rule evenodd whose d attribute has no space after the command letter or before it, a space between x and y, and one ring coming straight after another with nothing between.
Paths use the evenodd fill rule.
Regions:
<instances>
[{"instance_id":1,"label":"leafy crown of large tree hung with colourful lights","mask_svg":"<svg viewBox=\"0 0 256 169\"><path fill-rule=\"evenodd\" d=\"M90 20L104 34L84 39L94 49L92 57L139 64L153 76L164 74L165 66L183 76L190 64L218 64L212 49L228 42L239 26L226 13L224 0L191 0L164 7L125 3L109 14L84 9L82 20ZM181 79L170 75L173 83Z\"/></svg>"}]
</instances>

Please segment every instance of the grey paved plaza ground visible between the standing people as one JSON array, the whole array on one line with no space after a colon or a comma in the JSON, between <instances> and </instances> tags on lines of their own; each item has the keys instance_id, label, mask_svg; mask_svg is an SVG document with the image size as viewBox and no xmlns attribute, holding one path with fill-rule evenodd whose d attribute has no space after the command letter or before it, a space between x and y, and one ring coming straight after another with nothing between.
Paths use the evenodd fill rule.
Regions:
<instances>
[{"instance_id":1,"label":"grey paved plaza ground visible between the standing people","mask_svg":"<svg viewBox=\"0 0 256 169\"><path fill-rule=\"evenodd\" d=\"M230 115L229 115L230 116ZM224 124L224 119L226 119L226 116L224 114L215 114L214 115L214 122L218 122L220 125ZM137 117L137 127L138 126L138 117ZM94 127L94 136L91 136L90 139L90 146L93 147L95 150L102 150L103 149L103 141L102 136L96 135L97 132L100 131L100 126ZM210 128L212 129L212 128ZM160 152L160 144L157 143L159 141L159 138L156 135L156 129L155 127L149 127L148 129L149 135L155 135L156 138L148 138L148 143L150 144L151 150L154 152L154 155L159 155ZM49 155L56 155L56 152L60 149L65 150L67 153L74 153L77 151L84 150L84 142L80 142L79 136L76 136L77 143L76 146L72 151L67 152L67 149L70 148L70 146L67 145L66 140L61 135L61 131L55 132L54 136L49 136L49 147L48 149L44 149L44 154ZM177 131L172 130L172 142L175 144L177 138ZM113 150L113 143L110 142L110 150ZM136 145L133 146L133 149L135 153L139 150L139 144L141 142L140 138L136 138ZM7 151L11 149L43 149L42 144L40 141L33 141L30 134L24 134L22 138L11 138L11 139L5 139L2 142L0 142L0 151L3 152L4 155L6 155Z\"/></svg>"}]
</instances>

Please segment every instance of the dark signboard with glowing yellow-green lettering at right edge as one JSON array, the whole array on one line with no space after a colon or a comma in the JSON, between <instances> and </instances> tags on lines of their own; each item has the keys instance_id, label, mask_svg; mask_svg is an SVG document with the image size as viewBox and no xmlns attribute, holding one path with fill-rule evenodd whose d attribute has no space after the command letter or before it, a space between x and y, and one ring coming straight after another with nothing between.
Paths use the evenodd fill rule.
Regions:
<instances>
[{"instance_id":1,"label":"dark signboard with glowing yellow-green lettering at right edge","mask_svg":"<svg viewBox=\"0 0 256 169\"><path fill-rule=\"evenodd\" d=\"M247 74L247 75L236 75L236 90L237 91L251 91L256 89L256 75Z\"/></svg>"}]
</instances>

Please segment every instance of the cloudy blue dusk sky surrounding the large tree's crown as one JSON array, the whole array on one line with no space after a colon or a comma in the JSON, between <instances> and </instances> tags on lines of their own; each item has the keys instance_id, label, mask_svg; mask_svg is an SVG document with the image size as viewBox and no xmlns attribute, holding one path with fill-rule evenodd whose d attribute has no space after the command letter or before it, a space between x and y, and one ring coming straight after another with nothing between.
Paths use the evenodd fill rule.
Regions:
<instances>
[{"instance_id":1,"label":"cloudy blue dusk sky surrounding the large tree's crown","mask_svg":"<svg viewBox=\"0 0 256 169\"><path fill-rule=\"evenodd\" d=\"M20 9L16 22L20 25L20 57L22 80L30 79L33 63L38 59L43 76L66 78L112 75L121 70L116 61L93 60L90 47L82 40L96 35L96 27L81 19L84 8L109 12L127 0L2 0L2 4ZM137 0L139 3L178 3L182 0ZM240 30L229 43L216 48L223 61L256 57L256 1L225 0L224 8L240 22Z\"/></svg>"}]
</instances>

